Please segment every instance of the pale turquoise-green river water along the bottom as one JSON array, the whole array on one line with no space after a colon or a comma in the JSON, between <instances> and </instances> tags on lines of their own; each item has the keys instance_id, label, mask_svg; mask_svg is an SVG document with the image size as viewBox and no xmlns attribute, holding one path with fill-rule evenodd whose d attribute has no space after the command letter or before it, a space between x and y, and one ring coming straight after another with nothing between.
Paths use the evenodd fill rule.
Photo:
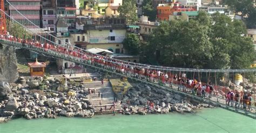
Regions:
<instances>
[{"instance_id":1,"label":"pale turquoise-green river water along the bottom","mask_svg":"<svg viewBox=\"0 0 256 133\"><path fill-rule=\"evenodd\" d=\"M0 124L1 133L58 132L214 132L253 133L256 120L227 110L204 109L197 114L97 115L92 119L16 119Z\"/></svg>"}]
</instances>

